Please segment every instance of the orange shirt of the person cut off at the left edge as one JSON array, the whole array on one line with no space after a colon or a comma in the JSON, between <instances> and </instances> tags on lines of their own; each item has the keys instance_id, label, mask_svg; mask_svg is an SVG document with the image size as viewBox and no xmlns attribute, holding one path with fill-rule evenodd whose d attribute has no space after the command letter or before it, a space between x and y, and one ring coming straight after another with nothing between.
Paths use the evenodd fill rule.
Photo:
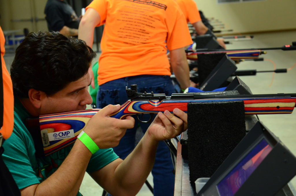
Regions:
<instances>
[{"instance_id":1,"label":"orange shirt of the person cut off at the left edge","mask_svg":"<svg viewBox=\"0 0 296 196\"><path fill-rule=\"evenodd\" d=\"M3 111L3 126L0 130L4 139L9 138L13 129L13 92L12 92L12 82L10 75L7 71L5 62L4 62L4 42L5 38L3 31L0 27L0 49L1 49L1 64L2 64L2 78L3 78L3 99L4 99L4 111Z\"/></svg>"}]
</instances>

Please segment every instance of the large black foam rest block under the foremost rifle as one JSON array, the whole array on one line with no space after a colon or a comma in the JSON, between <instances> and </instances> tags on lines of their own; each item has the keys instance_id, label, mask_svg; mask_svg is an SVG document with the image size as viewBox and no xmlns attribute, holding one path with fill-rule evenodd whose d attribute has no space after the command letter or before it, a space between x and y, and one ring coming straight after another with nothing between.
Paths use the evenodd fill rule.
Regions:
<instances>
[{"instance_id":1,"label":"large black foam rest block under the foremost rifle","mask_svg":"<svg viewBox=\"0 0 296 196\"><path fill-rule=\"evenodd\" d=\"M211 177L246 135L244 102L189 103L188 160L192 185Z\"/></svg>"}]
</instances>

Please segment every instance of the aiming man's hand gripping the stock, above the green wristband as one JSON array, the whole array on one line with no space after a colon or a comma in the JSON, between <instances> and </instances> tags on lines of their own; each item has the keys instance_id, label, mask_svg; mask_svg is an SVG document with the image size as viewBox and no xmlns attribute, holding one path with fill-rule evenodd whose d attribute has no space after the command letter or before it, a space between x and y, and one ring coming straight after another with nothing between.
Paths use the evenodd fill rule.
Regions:
<instances>
[{"instance_id":1,"label":"aiming man's hand gripping the stock, above the green wristband","mask_svg":"<svg viewBox=\"0 0 296 196\"><path fill-rule=\"evenodd\" d=\"M133 128L135 120L128 116L124 120L109 117L117 112L120 105L107 105L97 112L86 125L84 132L91 137L99 148L112 148L118 145L126 133L126 129Z\"/></svg>"}]
</instances>

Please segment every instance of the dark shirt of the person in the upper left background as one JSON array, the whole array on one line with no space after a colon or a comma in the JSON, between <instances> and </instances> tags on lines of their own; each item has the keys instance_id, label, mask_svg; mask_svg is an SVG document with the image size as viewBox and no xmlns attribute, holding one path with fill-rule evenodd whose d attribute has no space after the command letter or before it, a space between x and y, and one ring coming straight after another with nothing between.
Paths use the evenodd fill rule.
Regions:
<instances>
[{"instance_id":1,"label":"dark shirt of the person in the upper left background","mask_svg":"<svg viewBox=\"0 0 296 196\"><path fill-rule=\"evenodd\" d=\"M49 31L59 31L63 26L78 29L79 19L67 1L48 0L44 9Z\"/></svg>"}]
</instances>

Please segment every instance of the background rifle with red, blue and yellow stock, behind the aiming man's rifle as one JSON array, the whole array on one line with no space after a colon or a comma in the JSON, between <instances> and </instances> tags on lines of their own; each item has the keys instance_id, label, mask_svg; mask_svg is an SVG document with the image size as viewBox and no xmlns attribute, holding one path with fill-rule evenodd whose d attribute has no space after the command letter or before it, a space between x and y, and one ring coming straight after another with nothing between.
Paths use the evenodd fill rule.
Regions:
<instances>
[{"instance_id":1,"label":"background rifle with red, blue and yellow stock, behind the aiming man's rifle","mask_svg":"<svg viewBox=\"0 0 296 196\"><path fill-rule=\"evenodd\" d=\"M185 50L186 57L188 60L197 60L198 54L216 54L216 53L226 53L232 60L238 59L257 59L260 54L266 54L264 50L296 50L296 42L292 42L292 45L285 45L282 47L275 48L261 48L261 49L235 49L235 50L220 50L220 49L196 49Z\"/></svg>"}]
</instances>

